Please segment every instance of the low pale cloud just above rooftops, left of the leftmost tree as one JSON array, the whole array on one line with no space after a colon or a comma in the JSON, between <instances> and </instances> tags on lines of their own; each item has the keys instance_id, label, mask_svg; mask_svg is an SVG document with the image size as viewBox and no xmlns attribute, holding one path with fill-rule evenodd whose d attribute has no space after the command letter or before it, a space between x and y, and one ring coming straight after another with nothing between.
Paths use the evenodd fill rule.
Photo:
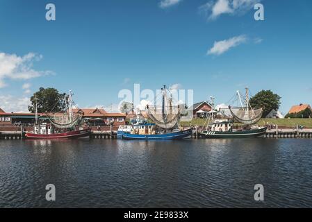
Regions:
<instances>
[{"instance_id":1,"label":"low pale cloud just above rooftops, left of the leftmost tree","mask_svg":"<svg viewBox=\"0 0 312 222\"><path fill-rule=\"evenodd\" d=\"M30 98L24 96L0 96L1 109L6 112L28 112L28 105L31 105Z\"/></svg>"}]
</instances>

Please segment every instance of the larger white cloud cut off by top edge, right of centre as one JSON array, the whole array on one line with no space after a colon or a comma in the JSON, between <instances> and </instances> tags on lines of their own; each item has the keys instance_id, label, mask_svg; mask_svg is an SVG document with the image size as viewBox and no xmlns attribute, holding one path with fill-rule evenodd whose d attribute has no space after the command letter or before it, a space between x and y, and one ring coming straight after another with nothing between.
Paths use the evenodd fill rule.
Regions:
<instances>
[{"instance_id":1,"label":"larger white cloud cut off by top edge, right of centre","mask_svg":"<svg viewBox=\"0 0 312 222\"><path fill-rule=\"evenodd\" d=\"M261 0L213 0L199 7L208 19L213 20L222 14L237 15L243 14L254 8Z\"/></svg>"}]
</instances>

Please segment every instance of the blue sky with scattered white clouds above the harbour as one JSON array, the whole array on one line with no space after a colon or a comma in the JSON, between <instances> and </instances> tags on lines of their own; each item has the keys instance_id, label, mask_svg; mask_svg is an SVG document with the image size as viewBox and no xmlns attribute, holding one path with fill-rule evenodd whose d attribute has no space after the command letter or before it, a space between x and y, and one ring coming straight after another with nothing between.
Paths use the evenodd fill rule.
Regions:
<instances>
[{"instance_id":1,"label":"blue sky with scattered white clouds above the harbour","mask_svg":"<svg viewBox=\"0 0 312 222\"><path fill-rule=\"evenodd\" d=\"M81 108L115 111L138 83L216 103L271 89L286 114L312 104L311 40L311 0L1 0L0 108L25 112L39 87L55 87Z\"/></svg>"}]
</instances>

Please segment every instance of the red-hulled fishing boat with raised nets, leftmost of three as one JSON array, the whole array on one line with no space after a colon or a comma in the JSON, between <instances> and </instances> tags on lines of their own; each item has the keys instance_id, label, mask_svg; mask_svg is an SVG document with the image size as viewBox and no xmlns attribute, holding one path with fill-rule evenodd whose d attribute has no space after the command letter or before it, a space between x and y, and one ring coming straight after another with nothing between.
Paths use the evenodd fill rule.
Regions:
<instances>
[{"instance_id":1,"label":"red-hulled fishing boat with raised nets, leftmost of three","mask_svg":"<svg viewBox=\"0 0 312 222\"><path fill-rule=\"evenodd\" d=\"M74 139L81 137L89 137L90 128L79 128L78 123L81 121L82 114L80 112L73 112L76 107L72 100L72 92L66 96L64 112L56 112L53 115L46 113L50 123L40 123L38 118L38 105L35 96L35 125L33 132L26 133L27 139ZM79 109L76 109L79 110Z\"/></svg>"}]
</instances>

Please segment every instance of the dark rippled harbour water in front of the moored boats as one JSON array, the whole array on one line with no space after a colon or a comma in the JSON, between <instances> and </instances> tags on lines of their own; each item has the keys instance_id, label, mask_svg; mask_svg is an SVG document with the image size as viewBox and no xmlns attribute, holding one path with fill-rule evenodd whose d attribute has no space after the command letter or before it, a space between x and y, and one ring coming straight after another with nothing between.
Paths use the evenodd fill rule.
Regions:
<instances>
[{"instance_id":1,"label":"dark rippled harbour water in front of the moored boats","mask_svg":"<svg viewBox=\"0 0 312 222\"><path fill-rule=\"evenodd\" d=\"M2 140L0 207L312 207L312 139Z\"/></svg>"}]
</instances>

